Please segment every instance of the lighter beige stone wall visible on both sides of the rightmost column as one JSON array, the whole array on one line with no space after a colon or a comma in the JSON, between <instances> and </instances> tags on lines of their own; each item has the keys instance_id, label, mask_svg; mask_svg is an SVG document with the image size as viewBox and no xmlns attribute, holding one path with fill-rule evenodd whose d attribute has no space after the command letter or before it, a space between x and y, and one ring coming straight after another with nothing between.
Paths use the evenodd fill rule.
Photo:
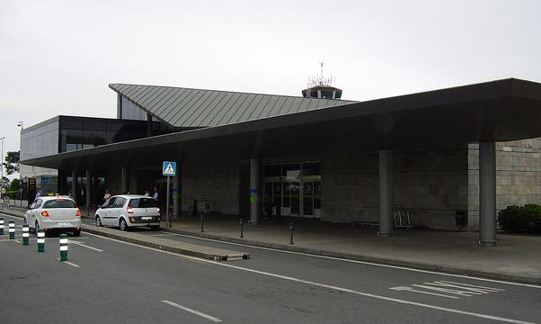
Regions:
<instances>
[{"instance_id":1,"label":"lighter beige stone wall visible on both sides of the rightmost column","mask_svg":"<svg viewBox=\"0 0 541 324\"><path fill-rule=\"evenodd\" d=\"M468 215L479 229L479 145L468 146ZM541 139L496 143L496 209L541 203Z\"/></svg>"}]
</instances>

